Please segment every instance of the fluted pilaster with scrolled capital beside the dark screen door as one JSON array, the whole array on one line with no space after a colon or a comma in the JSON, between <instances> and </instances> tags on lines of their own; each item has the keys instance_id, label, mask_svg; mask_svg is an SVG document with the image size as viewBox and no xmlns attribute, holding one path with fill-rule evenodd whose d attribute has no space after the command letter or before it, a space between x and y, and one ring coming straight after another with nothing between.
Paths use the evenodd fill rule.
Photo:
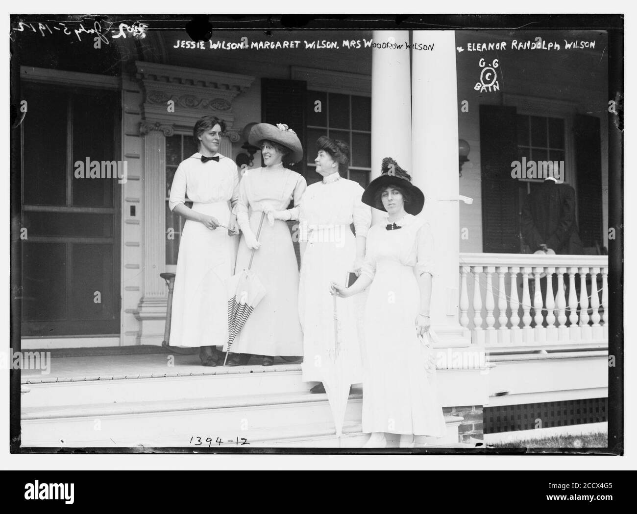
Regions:
<instances>
[{"instance_id":1,"label":"fluted pilaster with scrolled capital beside the dark screen door","mask_svg":"<svg viewBox=\"0 0 637 514\"><path fill-rule=\"evenodd\" d=\"M144 289L137 316L142 325L140 344L157 344L164 337L166 319L166 282L159 274L166 268L166 136L173 135L173 127L142 122L140 131L144 142Z\"/></svg>"}]
</instances>

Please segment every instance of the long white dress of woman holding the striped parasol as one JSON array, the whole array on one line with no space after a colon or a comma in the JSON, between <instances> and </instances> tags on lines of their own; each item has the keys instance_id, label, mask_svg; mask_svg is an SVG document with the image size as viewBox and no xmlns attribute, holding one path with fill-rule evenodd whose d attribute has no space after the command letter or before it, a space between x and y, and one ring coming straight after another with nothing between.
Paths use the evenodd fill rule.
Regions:
<instances>
[{"instance_id":1,"label":"long white dress of woman holding the striped parasol","mask_svg":"<svg viewBox=\"0 0 637 514\"><path fill-rule=\"evenodd\" d=\"M237 218L249 219L250 228L256 236L266 206L283 211L290 200L298 205L306 186L303 176L283 166L248 170L239 184L239 200L235 209ZM261 247L254 252L250 269L259 277L266 294L248 317L230 351L300 356L303 354L303 334L297 315L299 267L287 223L275 219L274 226L270 226L266 216L259 242ZM251 255L252 250L241 237L236 272L248 267Z\"/></svg>"}]
</instances>

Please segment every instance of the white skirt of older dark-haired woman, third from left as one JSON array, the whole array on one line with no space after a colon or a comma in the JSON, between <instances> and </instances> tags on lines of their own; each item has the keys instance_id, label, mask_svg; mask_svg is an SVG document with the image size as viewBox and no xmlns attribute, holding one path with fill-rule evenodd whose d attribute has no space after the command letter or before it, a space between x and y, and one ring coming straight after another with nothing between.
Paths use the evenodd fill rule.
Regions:
<instances>
[{"instance_id":1,"label":"white skirt of older dark-haired woman, third from left","mask_svg":"<svg viewBox=\"0 0 637 514\"><path fill-rule=\"evenodd\" d=\"M345 285L356 256L356 240L349 225L313 230L303 254L299 284L299 319L303 328L303 380L322 382L334 349L334 297L330 282ZM343 380L362 382L359 331L361 298L336 298Z\"/></svg>"}]
</instances>

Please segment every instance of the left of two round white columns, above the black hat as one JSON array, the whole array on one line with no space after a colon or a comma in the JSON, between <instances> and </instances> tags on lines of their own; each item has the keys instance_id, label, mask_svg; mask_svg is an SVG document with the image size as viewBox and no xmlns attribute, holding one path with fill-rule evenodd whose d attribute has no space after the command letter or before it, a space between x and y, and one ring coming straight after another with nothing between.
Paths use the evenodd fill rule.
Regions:
<instances>
[{"instance_id":1,"label":"left of two round white columns, above the black hat","mask_svg":"<svg viewBox=\"0 0 637 514\"><path fill-rule=\"evenodd\" d=\"M408 31L374 31L374 43L409 42ZM371 50L371 176L380 176L384 157L393 157L412 173L412 102L409 51L404 46ZM372 223L382 214L372 210Z\"/></svg>"}]
</instances>

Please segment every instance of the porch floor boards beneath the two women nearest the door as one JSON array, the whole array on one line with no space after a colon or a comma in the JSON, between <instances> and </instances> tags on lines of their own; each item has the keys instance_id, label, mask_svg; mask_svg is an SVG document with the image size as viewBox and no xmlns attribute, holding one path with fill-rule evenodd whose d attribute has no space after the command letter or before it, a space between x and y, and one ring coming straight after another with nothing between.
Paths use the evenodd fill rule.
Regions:
<instances>
[{"instance_id":1,"label":"porch floor boards beneath the two women nearest the door","mask_svg":"<svg viewBox=\"0 0 637 514\"><path fill-rule=\"evenodd\" d=\"M171 363L169 357L173 356ZM172 364L172 365L171 365ZM233 375L301 370L301 358L292 363L280 357L273 366L262 366L261 358L253 357L247 366L202 366L197 353L178 355L169 352L138 355L61 356L52 352L50 372L22 370L22 384L50 382L81 382L89 380L150 379L158 377L196 377L202 375Z\"/></svg>"}]
</instances>

